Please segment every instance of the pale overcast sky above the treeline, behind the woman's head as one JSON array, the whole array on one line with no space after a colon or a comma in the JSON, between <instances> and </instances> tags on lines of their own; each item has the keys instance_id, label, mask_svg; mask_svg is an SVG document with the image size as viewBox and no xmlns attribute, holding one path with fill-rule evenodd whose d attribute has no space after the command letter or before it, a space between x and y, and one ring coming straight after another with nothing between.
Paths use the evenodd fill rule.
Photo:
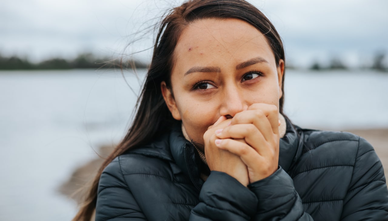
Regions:
<instances>
[{"instance_id":1,"label":"pale overcast sky above the treeline, behind the woman's head","mask_svg":"<svg viewBox=\"0 0 388 221\"><path fill-rule=\"evenodd\" d=\"M181 0L2 0L0 54L41 61L81 52L119 56L145 21ZM386 0L251 0L274 23L286 58L299 66L343 59L350 66L388 52ZM145 39L152 39L148 36ZM152 44L143 40L141 47ZM131 48L130 50L139 50ZM149 57L143 53L143 57Z\"/></svg>"}]
</instances>

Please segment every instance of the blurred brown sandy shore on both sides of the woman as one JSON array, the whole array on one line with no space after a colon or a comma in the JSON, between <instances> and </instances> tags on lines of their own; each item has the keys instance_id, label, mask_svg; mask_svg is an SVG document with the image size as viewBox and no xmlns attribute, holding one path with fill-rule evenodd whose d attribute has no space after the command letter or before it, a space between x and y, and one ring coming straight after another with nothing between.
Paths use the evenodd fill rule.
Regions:
<instances>
[{"instance_id":1,"label":"blurred brown sandy shore on both sides of the woman","mask_svg":"<svg viewBox=\"0 0 388 221\"><path fill-rule=\"evenodd\" d=\"M387 129L368 129L368 130L344 130L364 137L372 144L377 155L383 163L385 177L388 177L388 128ZM99 154L106 157L113 150L113 146L101 146ZM85 165L78 167L69 177L68 181L59 186L59 192L73 198L76 202L81 201L81 196L85 187L88 186L88 181L95 176L97 170L102 164L102 158L96 158Z\"/></svg>"}]
</instances>

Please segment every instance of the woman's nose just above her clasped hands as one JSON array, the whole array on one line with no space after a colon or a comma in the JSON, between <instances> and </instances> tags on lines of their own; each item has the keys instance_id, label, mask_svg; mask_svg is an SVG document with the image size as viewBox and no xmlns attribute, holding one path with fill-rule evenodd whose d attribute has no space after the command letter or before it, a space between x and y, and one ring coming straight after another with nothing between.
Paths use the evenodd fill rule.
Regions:
<instances>
[{"instance_id":1,"label":"woman's nose just above her clasped hands","mask_svg":"<svg viewBox=\"0 0 388 221\"><path fill-rule=\"evenodd\" d=\"M244 94L236 85L224 87L222 96L220 115L229 119L234 117L236 113L248 109Z\"/></svg>"}]
</instances>

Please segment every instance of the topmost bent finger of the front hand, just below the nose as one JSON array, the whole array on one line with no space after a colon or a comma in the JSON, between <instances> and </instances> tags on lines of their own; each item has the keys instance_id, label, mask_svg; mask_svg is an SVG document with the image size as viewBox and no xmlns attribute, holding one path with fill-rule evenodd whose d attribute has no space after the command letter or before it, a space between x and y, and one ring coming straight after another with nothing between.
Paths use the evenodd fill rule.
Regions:
<instances>
[{"instance_id":1,"label":"topmost bent finger of the front hand, just below the nose","mask_svg":"<svg viewBox=\"0 0 388 221\"><path fill-rule=\"evenodd\" d=\"M271 141L274 138L272 125L262 110L246 110L237 113L232 118L232 125L253 124L263 134L265 140ZM279 127L279 125L278 125Z\"/></svg>"}]
</instances>

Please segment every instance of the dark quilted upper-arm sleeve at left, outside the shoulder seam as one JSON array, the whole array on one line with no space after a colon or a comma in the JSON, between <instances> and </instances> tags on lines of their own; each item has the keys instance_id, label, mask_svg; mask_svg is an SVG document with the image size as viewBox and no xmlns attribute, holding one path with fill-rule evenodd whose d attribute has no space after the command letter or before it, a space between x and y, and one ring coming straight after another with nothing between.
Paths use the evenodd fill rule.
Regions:
<instances>
[{"instance_id":1,"label":"dark quilted upper-arm sleeve at left, outside the shoulder seam","mask_svg":"<svg viewBox=\"0 0 388 221\"><path fill-rule=\"evenodd\" d=\"M96 221L147 220L124 180L119 159L102 172L97 191Z\"/></svg>"}]
</instances>

